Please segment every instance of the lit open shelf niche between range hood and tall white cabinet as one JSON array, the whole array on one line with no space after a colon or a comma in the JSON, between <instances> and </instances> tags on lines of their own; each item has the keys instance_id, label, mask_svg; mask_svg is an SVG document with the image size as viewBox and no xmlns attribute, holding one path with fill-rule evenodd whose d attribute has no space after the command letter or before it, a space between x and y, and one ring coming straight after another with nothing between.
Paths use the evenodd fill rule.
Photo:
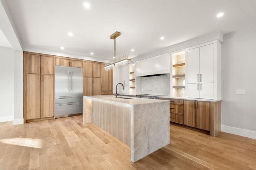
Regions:
<instances>
[{"instance_id":1,"label":"lit open shelf niche between range hood and tall white cabinet","mask_svg":"<svg viewBox=\"0 0 256 170\"><path fill-rule=\"evenodd\" d=\"M186 51L172 53L172 96L185 97Z\"/></svg>"}]
</instances>

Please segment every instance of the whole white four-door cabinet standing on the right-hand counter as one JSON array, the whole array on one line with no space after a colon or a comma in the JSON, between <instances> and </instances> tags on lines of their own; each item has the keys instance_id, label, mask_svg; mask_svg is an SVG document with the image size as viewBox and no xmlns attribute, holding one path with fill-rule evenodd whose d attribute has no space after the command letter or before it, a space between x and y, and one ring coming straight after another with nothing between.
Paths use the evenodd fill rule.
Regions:
<instances>
[{"instance_id":1,"label":"whole white four-door cabinet standing on the right-hand counter","mask_svg":"<svg viewBox=\"0 0 256 170\"><path fill-rule=\"evenodd\" d=\"M221 98L220 42L212 41L188 49L188 98Z\"/></svg>"}]
</instances>

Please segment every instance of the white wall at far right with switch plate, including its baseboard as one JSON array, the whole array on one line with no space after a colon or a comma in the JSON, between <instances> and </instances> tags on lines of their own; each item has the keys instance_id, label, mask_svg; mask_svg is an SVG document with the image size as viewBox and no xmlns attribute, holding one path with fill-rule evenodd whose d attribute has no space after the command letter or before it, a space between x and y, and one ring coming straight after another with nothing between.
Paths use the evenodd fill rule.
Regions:
<instances>
[{"instance_id":1,"label":"white wall at far right with switch plate, including its baseboard","mask_svg":"<svg viewBox=\"0 0 256 170\"><path fill-rule=\"evenodd\" d=\"M256 26L223 38L222 131L256 139ZM236 89L245 95L235 94Z\"/></svg>"}]
</instances>

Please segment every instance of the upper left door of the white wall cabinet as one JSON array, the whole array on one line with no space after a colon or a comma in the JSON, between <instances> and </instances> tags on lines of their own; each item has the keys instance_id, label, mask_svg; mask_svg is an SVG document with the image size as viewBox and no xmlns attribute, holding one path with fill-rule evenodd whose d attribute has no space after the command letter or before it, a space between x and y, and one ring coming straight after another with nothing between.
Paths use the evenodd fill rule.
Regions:
<instances>
[{"instance_id":1,"label":"upper left door of the white wall cabinet","mask_svg":"<svg viewBox=\"0 0 256 170\"><path fill-rule=\"evenodd\" d=\"M188 50L188 83L199 82L199 48Z\"/></svg>"}]
</instances>

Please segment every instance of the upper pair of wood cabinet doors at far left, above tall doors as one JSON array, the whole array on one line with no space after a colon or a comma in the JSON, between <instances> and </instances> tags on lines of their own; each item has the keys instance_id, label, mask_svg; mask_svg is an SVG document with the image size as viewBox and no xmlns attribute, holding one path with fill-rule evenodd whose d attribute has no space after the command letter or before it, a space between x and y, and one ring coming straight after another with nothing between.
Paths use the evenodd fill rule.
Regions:
<instances>
[{"instance_id":1,"label":"upper pair of wood cabinet doors at far left, above tall doors","mask_svg":"<svg viewBox=\"0 0 256 170\"><path fill-rule=\"evenodd\" d=\"M54 74L54 57L26 54L26 73Z\"/></svg>"}]
</instances>

